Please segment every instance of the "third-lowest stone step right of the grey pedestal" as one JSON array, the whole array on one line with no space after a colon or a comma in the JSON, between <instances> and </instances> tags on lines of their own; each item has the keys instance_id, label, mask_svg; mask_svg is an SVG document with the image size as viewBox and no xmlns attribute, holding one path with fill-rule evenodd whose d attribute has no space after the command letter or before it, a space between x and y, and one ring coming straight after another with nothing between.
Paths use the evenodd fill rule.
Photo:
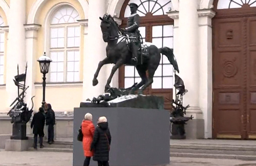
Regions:
<instances>
[{"instance_id":1,"label":"third-lowest stone step right of the grey pedestal","mask_svg":"<svg viewBox=\"0 0 256 166\"><path fill-rule=\"evenodd\" d=\"M198 150L240 150L240 151L256 151L256 146L251 145L206 145L206 144L171 144L170 149L198 149Z\"/></svg>"}]
</instances>

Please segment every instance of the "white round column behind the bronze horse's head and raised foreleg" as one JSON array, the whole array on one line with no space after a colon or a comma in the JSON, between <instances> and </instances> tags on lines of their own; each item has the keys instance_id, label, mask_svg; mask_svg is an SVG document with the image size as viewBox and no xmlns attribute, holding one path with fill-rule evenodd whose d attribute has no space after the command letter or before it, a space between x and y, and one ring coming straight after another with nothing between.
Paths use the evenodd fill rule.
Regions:
<instances>
[{"instance_id":1,"label":"white round column behind the bronze horse's head and raised foreleg","mask_svg":"<svg viewBox=\"0 0 256 166\"><path fill-rule=\"evenodd\" d=\"M107 66L103 66L98 75L98 85L92 86L93 75L98 67L98 62L106 57L106 43L102 39L100 29L101 20L106 11L105 0L91 0L88 10L88 35L84 49L84 82L83 99L97 97L104 93L107 80Z\"/></svg>"}]
</instances>

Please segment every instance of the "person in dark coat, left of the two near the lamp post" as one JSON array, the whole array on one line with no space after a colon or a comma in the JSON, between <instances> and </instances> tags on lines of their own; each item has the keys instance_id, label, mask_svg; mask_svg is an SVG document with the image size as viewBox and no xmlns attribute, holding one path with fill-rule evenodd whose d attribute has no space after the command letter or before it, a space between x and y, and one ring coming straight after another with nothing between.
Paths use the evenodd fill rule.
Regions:
<instances>
[{"instance_id":1,"label":"person in dark coat, left of the two near the lamp post","mask_svg":"<svg viewBox=\"0 0 256 166\"><path fill-rule=\"evenodd\" d=\"M35 113L30 125L33 128L34 134L34 148L37 149L37 141L39 136L40 148L43 148L43 128L45 127L45 116L43 115L43 108L39 108L39 112Z\"/></svg>"}]
</instances>

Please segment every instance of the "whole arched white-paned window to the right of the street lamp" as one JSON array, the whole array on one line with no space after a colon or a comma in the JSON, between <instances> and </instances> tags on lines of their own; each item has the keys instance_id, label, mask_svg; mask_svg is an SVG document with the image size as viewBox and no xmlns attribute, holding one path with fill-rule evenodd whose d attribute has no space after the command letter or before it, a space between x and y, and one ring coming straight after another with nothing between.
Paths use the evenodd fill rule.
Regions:
<instances>
[{"instance_id":1,"label":"whole arched white-paned window to the right of the street lamp","mask_svg":"<svg viewBox=\"0 0 256 166\"><path fill-rule=\"evenodd\" d=\"M50 82L80 80L80 26L78 12L65 6L50 21Z\"/></svg>"}]
</instances>

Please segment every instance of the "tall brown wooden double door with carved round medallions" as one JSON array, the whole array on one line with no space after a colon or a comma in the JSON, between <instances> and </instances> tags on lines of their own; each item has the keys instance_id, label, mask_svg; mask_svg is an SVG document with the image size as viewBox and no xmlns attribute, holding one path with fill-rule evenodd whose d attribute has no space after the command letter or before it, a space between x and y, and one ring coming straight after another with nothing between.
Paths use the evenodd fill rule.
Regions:
<instances>
[{"instance_id":1,"label":"tall brown wooden double door with carved round medallions","mask_svg":"<svg viewBox=\"0 0 256 166\"><path fill-rule=\"evenodd\" d=\"M256 13L213 18L213 138L256 139Z\"/></svg>"}]
</instances>

